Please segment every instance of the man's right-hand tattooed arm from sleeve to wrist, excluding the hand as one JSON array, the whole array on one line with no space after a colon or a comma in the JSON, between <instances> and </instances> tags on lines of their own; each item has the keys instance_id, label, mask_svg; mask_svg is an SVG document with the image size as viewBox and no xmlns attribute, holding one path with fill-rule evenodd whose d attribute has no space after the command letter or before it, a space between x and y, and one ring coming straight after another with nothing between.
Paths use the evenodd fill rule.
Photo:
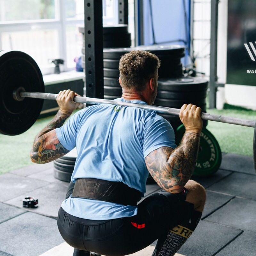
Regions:
<instances>
[{"instance_id":1,"label":"man's right-hand tattooed arm from sleeve to wrist, excluding the hand","mask_svg":"<svg viewBox=\"0 0 256 256\"><path fill-rule=\"evenodd\" d=\"M186 132L175 150L161 147L146 156L148 171L161 188L179 193L185 186L196 165L199 140L199 132Z\"/></svg>"}]
</instances>

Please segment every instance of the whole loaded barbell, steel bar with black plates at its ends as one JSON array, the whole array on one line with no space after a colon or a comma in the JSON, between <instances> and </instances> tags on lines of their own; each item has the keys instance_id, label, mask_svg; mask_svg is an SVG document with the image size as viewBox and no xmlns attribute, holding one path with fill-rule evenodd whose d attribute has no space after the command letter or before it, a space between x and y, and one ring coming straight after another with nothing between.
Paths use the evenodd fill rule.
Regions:
<instances>
[{"instance_id":1,"label":"whole loaded barbell, steel bar with black plates at its ends","mask_svg":"<svg viewBox=\"0 0 256 256\"><path fill-rule=\"evenodd\" d=\"M0 52L0 132L18 135L27 131L40 115L43 100L56 100L58 94L44 93L40 68L28 54L20 51ZM179 115L180 109L130 102L76 96L75 102L130 106L168 115ZM202 113L203 120L254 127L253 162L256 170L255 121Z\"/></svg>"}]
</instances>

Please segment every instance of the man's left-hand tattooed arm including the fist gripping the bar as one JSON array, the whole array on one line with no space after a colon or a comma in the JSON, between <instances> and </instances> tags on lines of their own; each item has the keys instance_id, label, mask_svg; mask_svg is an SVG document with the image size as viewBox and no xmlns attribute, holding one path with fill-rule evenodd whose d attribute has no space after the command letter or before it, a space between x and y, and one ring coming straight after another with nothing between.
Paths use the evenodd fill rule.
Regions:
<instances>
[{"instance_id":1,"label":"man's left-hand tattooed arm including the fist gripping the bar","mask_svg":"<svg viewBox=\"0 0 256 256\"><path fill-rule=\"evenodd\" d=\"M60 91L57 102L60 110L54 116L53 120L36 135L33 147L30 151L30 159L36 164L45 164L51 162L69 152L57 138L56 128L61 127L66 119L71 115L79 103L73 101L77 93L71 90Z\"/></svg>"}]
</instances>

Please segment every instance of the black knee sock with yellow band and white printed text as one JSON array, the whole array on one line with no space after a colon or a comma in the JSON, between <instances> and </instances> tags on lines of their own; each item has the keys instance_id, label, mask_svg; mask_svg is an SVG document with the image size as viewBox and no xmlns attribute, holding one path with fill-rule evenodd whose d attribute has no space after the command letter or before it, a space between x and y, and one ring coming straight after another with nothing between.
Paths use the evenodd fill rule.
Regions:
<instances>
[{"instance_id":1,"label":"black knee sock with yellow band and white printed text","mask_svg":"<svg viewBox=\"0 0 256 256\"><path fill-rule=\"evenodd\" d=\"M189 220L168 231L167 235L160 237L152 256L173 256L187 241L195 230L202 212L194 211Z\"/></svg>"}]
</instances>

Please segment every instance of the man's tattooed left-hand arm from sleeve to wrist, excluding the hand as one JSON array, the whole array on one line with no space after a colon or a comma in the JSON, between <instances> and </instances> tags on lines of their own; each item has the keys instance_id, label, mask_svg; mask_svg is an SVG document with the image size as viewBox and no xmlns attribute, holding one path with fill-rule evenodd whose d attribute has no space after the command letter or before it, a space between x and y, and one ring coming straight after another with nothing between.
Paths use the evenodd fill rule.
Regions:
<instances>
[{"instance_id":1,"label":"man's tattooed left-hand arm from sleeve to wrist, excluding the hand","mask_svg":"<svg viewBox=\"0 0 256 256\"><path fill-rule=\"evenodd\" d=\"M32 162L45 164L69 152L62 146L54 130L61 127L68 117L69 115L59 110L53 120L36 135L33 148L30 151Z\"/></svg>"}]
</instances>

